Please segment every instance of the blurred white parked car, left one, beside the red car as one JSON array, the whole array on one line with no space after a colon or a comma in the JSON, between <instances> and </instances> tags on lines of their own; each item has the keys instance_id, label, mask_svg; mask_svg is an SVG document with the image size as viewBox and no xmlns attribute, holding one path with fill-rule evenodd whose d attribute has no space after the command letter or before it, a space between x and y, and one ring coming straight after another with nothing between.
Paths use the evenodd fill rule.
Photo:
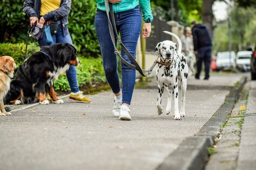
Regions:
<instances>
[{"instance_id":1,"label":"blurred white parked car, left one, beside the red car","mask_svg":"<svg viewBox=\"0 0 256 170\"><path fill-rule=\"evenodd\" d=\"M235 52L218 52L216 58L216 71L231 70L235 63Z\"/></svg>"}]
</instances>

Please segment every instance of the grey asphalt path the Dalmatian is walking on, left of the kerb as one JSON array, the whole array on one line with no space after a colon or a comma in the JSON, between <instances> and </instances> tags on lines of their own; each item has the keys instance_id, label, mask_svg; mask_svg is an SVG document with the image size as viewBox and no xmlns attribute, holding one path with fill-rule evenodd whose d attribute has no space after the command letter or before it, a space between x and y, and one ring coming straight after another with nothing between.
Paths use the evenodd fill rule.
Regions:
<instances>
[{"instance_id":1,"label":"grey asphalt path the Dalmatian is walking on, left of the kerb","mask_svg":"<svg viewBox=\"0 0 256 170\"><path fill-rule=\"evenodd\" d=\"M37 105L0 117L0 169L155 169L200 130L241 76L189 78L186 117L180 121L173 114L157 115L155 81L135 89L132 121L112 116L110 91L89 96L91 104L65 98L61 105Z\"/></svg>"}]
</instances>

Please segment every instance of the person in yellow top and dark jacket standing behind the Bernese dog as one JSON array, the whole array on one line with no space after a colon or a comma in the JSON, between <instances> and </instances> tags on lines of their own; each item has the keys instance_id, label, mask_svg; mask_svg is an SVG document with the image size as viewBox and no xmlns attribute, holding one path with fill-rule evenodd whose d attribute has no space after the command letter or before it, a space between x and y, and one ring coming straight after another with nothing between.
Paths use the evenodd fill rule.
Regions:
<instances>
[{"instance_id":1,"label":"person in yellow top and dark jacket standing behind the Bernese dog","mask_svg":"<svg viewBox=\"0 0 256 170\"><path fill-rule=\"evenodd\" d=\"M69 43L73 45L68 31L68 15L71 9L71 0L25 0L23 11L29 16L30 26L50 23L50 28L44 30L43 37L38 44L51 46L55 43ZM51 29L51 30L50 30ZM71 89L69 100L90 103L90 99L83 96L78 88L76 67L69 66L66 72Z\"/></svg>"}]
</instances>

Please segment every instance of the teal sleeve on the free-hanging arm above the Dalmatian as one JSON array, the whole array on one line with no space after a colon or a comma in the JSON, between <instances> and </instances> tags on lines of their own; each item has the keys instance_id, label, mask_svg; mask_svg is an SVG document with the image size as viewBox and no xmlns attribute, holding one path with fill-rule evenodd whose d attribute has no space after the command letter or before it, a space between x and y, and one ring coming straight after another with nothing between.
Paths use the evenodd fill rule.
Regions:
<instances>
[{"instance_id":1,"label":"teal sleeve on the free-hanging arm above the Dalmatian","mask_svg":"<svg viewBox=\"0 0 256 170\"><path fill-rule=\"evenodd\" d=\"M142 10L142 18L145 22L152 22L153 15L150 8L150 1L149 0L139 0L140 7Z\"/></svg>"}]
</instances>

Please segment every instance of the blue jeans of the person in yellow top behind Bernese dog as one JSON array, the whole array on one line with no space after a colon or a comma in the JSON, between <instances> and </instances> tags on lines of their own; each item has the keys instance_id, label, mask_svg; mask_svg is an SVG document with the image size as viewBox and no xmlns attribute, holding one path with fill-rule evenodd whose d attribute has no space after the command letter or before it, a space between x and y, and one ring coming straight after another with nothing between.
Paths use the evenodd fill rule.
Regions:
<instances>
[{"instance_id":1,"label":"blue jeans of the person in yellow top behind Bernese dog","mask_svg":"<svg viewBox=\"0 0 256 170\"><path fill-rule=\"evenodd\" d=\"M65 25L66 27L68 25ZM68 28L65 28L65 31L68 31ZM57 30L57 34L56 35L51 35L52 37L52 40L53 42L48 44L47 41L46 41L46 35L44 33L43 37L38 40L38 44L39 46L45 46L45 45L53 45L55 43L69 43L69 44L72 44L72 39L69 35L69 33L67 33L66 36L63 36L63 29L62 29L62 26L61 24L58 25L58 30ZM77 83L77 76L76 76L76 67L74 65L70 65L69 66L69 70L66 71L66 74L67 74L67 78L68 78L68 83L69 83L69 86L70 86L70 89L71 89L71 92L73 93L76 93L79 91L79 88L78 88L78 83Z\"/></svg>"}]
</instances>

